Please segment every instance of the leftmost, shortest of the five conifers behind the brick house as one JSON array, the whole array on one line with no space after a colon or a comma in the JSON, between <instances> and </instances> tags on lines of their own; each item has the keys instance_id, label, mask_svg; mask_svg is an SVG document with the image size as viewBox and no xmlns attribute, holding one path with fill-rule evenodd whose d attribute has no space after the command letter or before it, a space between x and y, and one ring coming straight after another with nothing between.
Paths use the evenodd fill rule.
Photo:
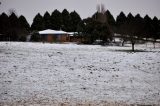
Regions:
<instances>
[{"instance_id":1,"label":"leftmost, shortest of the five conifers behind the brick house","mask_svg":"<svg viewBox=\"0 0 160 106\"><path fill-rule=\"evenodd\" d=\"M43 17L40 15L40 13L38 13L35 16L35 18L33 19L31 29L32 30L37 30L37 31L45 29L45 23L44 23Z\"/></svg>"}]
</instances>

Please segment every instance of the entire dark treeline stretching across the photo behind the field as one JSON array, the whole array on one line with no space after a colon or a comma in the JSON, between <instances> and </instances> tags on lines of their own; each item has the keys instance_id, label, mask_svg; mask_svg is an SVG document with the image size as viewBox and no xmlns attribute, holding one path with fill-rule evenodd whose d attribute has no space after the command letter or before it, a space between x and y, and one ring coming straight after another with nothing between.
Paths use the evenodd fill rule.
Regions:
<instances>
[{"instance_id":1,"label":"entire dark treeline stretching across the photo behind the field","mask_svg":"<svg viewBox=\"0 0 160 106\"><path fill-rule=\"evenodd\" d=\"M5 35L1 40L23 41L25 35L45 29L78 32L82 41L90 44L97 39L112 41L115 33L120 34L124 42L129 40L133 45L137 39L152 38L156 41L160 38L160 20L157 17L151 19L148 15L141 17L140 14L133 16L129 13L126 16L121 12L114 19L107 10L82 20L76 11L64 9L62 12L54 10L51 14L46 12L43 16L38 13L31 26L24 16L17 17L15 13L0 15L0 34Z\"/></svg>"}]
</instances>

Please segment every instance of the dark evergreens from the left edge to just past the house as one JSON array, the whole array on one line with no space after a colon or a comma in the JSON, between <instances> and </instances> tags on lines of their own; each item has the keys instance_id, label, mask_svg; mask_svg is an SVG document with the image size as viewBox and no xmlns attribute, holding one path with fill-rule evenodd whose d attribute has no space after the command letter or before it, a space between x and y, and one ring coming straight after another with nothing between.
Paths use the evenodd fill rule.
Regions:
<instances>
[{"instance_id":1,"label":"dark evergreens from the left edge to just past the house","mask_svg":"<svg viewBox=\"0 0 160 106\"><path fill-rule=\"evenodd\" d=\"M14 12L9 16L2 13L0 15L0 40L25 41L28 34L45 29L76 32L81 21L82 19L76 11L69 13L66 9L62 12L54 10L51 14L46 11L44 16L38 13L31 26L22 15L18 17Z\"/></svg>"}]
</instances>

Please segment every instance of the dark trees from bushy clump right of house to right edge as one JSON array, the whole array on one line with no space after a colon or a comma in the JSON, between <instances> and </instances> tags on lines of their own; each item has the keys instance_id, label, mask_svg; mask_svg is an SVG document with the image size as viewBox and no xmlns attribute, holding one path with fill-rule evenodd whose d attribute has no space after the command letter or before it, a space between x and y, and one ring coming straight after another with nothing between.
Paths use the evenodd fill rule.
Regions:
<instances>
[{"instance_id":1,"label":"dark trees from bushy clump right of house to right edge","mask_svg":"<svg viewBox=\"0 0 160 106\"><path fill-rule=\"evenodd\" d=\"M146 15L142 18L140 14L133 16L131 13L126 16L121 12L115 20L107 10L103 13L107 22L100 23L97 21L99 15L100 13L96 12L91 18L83 20L85 26L82 25L83 30L81 31L88 38L88 43L93 43L96 39L105 42L112 40L114 33L117 33L120 34L119 37L122 38L123 44L125 41L130 41L134 49L134 44L140 40L148 41L150 38L152 39L150 41L155 43L160 38L160 20L157 17L151 19ZM100 17L100 19L103 21L103 18Z\"/></svg>"}]
</instances>

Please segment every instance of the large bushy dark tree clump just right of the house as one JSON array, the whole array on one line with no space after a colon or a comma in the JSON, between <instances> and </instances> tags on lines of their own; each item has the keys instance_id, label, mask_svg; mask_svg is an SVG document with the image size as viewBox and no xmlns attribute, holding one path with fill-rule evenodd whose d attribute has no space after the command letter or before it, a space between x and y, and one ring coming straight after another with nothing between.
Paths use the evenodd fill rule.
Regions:
<instances>
[{"instance_id":1,"label":"large bushy dark tree clump just right of the house","mask_svg":"<svg viewBox=\"0 0 160 106\"><path fill-rule=\"evenodd\" d=\"M110 16L108 16L110 15ZM113 32L111 25L114 25L114 18L111 19L111 14L109 11L105 13L96 12L92 18L85 20L85 33L87 36L88 43L94 43L96 40L100 40L104 43L112 40ZM110 18L108 21L107 18Z\"/></svg>"}]
</instances>

